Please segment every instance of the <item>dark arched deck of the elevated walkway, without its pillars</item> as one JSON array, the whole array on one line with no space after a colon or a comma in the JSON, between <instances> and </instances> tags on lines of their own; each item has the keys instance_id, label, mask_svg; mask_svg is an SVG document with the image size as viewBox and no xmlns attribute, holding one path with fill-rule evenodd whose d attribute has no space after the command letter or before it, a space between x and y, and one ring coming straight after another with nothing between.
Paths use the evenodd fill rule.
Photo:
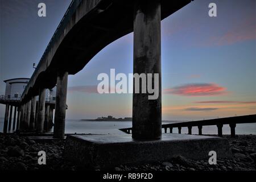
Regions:
<instances>
[{"instance_id":1,"label":"dark arched deck of the elevated walkway, without its pillars","mask_svg":"<svg viewBox=\"0 0 256 182\"><path fill-rule=\"evenodd\" d=\"M187 5L190 0L162 0L161 19ZM22 100L39 94L39 88L56 85L57 72L75 75L108 44L133 32L134 1L73 1L53 35Z\"/></svg>"}]
</instances>

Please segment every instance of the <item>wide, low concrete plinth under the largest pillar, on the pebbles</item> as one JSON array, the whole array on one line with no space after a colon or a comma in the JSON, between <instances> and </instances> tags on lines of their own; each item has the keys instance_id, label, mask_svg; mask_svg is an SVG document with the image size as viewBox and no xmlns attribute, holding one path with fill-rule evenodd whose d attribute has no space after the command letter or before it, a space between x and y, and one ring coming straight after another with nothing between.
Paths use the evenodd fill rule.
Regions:
<instances>
[{"instance_id":1,"label":"wide, low concrete plinth under the largest pillar, on the pebbles","mask_svg":"<svg viewBox=\"0 0 256 182\"><path fill-rule=\"evenodd\" d=\"M131 135L69 135L64 158L84 167L109 168L120 164L166 161L176 155L189 159L231 158L228 140L185 134L163 134L160 140L138 141Z\"/></svg>"}]
</instances>

